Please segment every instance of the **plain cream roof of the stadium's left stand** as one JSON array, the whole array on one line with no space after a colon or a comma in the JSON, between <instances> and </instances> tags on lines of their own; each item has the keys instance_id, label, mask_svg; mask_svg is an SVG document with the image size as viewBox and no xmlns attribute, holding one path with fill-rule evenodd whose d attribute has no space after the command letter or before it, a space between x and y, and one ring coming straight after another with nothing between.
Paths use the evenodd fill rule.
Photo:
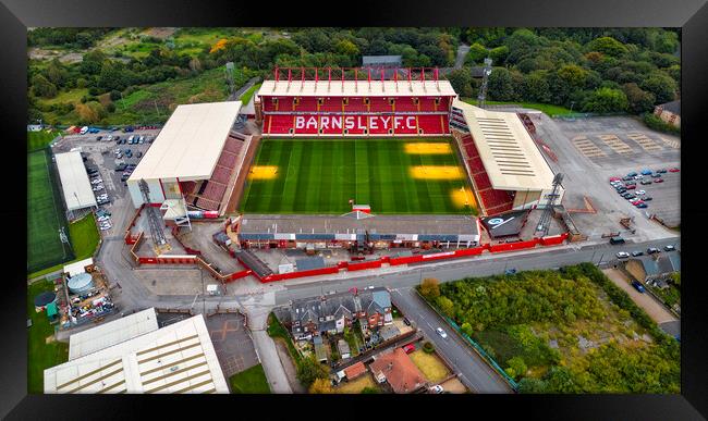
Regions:
<instances>
[{"instance_id":1,"label":"plain cream roof of the stadium's left stand","mask_svg":"<svg viewBox=\"0 0 708 421\"><path fill-rule=\"evenodd\" d=\"M178 106L129 183L208 179L240 110L241 101Z\"/></svg>"}]
</instances>

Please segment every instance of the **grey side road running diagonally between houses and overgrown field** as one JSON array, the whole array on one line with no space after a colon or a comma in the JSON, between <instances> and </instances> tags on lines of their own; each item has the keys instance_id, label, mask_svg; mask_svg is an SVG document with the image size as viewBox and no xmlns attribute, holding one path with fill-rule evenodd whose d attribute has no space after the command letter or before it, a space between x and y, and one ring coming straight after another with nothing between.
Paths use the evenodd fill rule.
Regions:
<instances>
[{"instance_id":1,"label":"grey side road running diagonally between houses and overgrown field","mask_svg":"<svg viewBox=\"0 0 708 421\"><path fill-rule=\"evenodd\" d=\"M416 323L436 350L442 354L460 371L460 380L474 393L511 393L509 384L492 370L487 362L466 345L450 329L443 339L436 327L445 326L444 321L425 304L413 288L399 288L391 292L391 300L407 318Z\"/></svg>"}]
</instances>

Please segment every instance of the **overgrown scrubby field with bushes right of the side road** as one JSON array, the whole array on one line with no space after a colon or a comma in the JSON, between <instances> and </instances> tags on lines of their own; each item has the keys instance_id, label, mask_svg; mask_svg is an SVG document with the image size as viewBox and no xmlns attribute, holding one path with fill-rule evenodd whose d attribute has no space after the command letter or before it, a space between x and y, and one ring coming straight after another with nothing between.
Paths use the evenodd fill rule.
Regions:
<instances>
[{"instance_id":1,"label":"overgrown scrubby field with bushes right of the side road","mask_svg":"<svg viewBox=\"0 0 708 421\"><path fill-rule=\"evenodd\" d=\"M680 347L593 264L464 278L422 294L522 393L679 393Z\"/></svg>"}]
</instances>

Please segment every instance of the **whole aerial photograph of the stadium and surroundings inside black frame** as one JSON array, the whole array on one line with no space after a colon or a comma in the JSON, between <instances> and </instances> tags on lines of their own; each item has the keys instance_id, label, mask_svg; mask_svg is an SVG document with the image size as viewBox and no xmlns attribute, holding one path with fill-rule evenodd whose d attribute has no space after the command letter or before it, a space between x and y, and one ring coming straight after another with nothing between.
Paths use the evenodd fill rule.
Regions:
<instances>
[{"instance_id":1,"label":"whole aerial photograph of the stadium and surroundings inside black frame","mask_svg":"<svg viewBox=\"0 0 708 421\"><path fill-rule=\"evenodd\" d=\"M33 27L27 87L30 394L681 393L681 28Z\"/></svg>"}]
</instances>

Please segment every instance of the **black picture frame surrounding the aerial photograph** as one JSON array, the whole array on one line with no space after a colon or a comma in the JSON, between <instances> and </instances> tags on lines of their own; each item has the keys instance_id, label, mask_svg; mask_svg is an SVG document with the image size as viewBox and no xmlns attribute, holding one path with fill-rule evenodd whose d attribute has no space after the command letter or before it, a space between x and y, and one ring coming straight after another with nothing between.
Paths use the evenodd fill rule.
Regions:
<instances>
[{"instance_id":1,"label":"black picture frame surrounding the aerial photograph","mask_svg":"<svg viewBox=\"0 0 708 421\"><path fill-rule=\"evenodd\" d=\"M235 419L381 417L503 417L541 419L687 420L708 417L708 347L700 240L708 211L701 200L681 203L683 253L681 395L444 395L444 396L66 396L26 393L26 29L36 26L660 26L682 28L682 190L703 188L701 127L708 98L708 5L706 0L547 0L541 2L437 0L357 2L190 2L148 0L1 0L0 117L3 122L5 205L0 294L0 416L8 419L160 418L186 416ZM703 177L705 178L705 176ZM691 196L704 196L703 194ZM692 197L696 199L696 197ZM16 231L16 232L15 232ZM26 259L25 259L26 260ZM198 401L196 400L198 399ZM225 410L219 413L219 410ZM356 410L354 410L356 409ZM461 411L459 414L452 411ZM488 410L486 416L483 410ZM361 412L359 412L361 411Z\"/></svg>"}]
</instances>

